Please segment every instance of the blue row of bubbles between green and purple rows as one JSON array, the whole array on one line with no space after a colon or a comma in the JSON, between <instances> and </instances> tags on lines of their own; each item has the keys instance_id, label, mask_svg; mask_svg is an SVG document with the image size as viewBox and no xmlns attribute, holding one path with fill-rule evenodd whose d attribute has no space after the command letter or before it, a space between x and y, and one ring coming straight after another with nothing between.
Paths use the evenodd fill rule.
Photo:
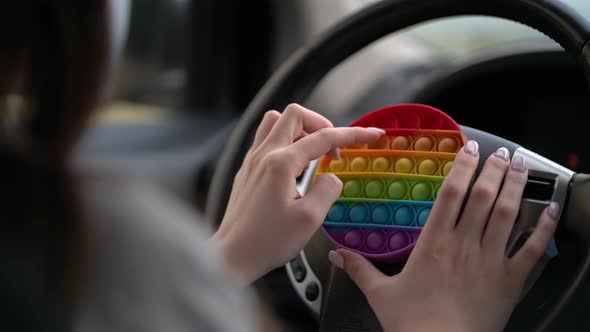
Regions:
<instances>
[{"instance_id":1,"label":"blue row of bubbles between green and purple rows","mask_svg":"<svg viewBox=\"0 0 590 332\"><path fill-rule=\"evenodd\" d=\"M330 208L324 224L356 227L424 227L431 209L432 202L338 200Z\"/></svg>"}]
</instances>

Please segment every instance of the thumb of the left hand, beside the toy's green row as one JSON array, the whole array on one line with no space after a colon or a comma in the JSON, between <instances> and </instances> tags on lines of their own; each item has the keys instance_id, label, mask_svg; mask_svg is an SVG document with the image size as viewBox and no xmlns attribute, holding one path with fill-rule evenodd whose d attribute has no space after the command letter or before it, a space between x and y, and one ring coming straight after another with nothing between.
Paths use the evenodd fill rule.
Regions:
<instances>
[{"instance_id":1,"label":"thumb of the left hand, beside the toy's green row","mask_svg":"<svg viewBox=\"0 0 590 332\"><path fill-rule=\"evenodd\" d=\"M342 193L342 181L332 173L325 173L314 181L309 191L303 196L302 203L313 208L316 216L323 218L330 207Z\"/></svg>"}]
</instances>

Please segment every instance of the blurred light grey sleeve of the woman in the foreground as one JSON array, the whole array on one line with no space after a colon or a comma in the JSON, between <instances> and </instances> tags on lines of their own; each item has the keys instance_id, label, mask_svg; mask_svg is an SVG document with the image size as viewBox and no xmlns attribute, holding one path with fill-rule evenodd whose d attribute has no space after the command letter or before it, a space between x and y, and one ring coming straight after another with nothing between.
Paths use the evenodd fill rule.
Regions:
<instances>
[{"instance_id":1,"label":"blurred light grey sleeve of the woman in the foreground","mask_svg":"<svg viewBox=\"0 0 590 332\"><path fill-rule=\"evenodd\" d=\"M252 298L229 282L189 204L129 174L80 179L90 259L79 330L252 330Z\"/></svg>"}]
</instances>

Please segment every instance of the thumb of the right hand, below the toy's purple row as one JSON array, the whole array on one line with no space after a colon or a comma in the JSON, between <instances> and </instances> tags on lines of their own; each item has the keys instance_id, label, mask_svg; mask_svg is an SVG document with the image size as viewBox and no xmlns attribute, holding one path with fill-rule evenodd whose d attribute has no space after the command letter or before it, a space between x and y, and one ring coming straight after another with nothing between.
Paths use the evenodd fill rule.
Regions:
<instances>
[{"instance_id":1,"label":"thumb of the right hand, below the toy's purple row","mask_svg":"<svg viewBox=\"0 0 590 332\"><path fill-rule=\"evenodd\" d=\"M365 296L367 296L367 292L372 285L381 279L387 278L366 258L349 250L330 251L328 259L334 265L343 269Z\"/></svg>"}]
</instances>

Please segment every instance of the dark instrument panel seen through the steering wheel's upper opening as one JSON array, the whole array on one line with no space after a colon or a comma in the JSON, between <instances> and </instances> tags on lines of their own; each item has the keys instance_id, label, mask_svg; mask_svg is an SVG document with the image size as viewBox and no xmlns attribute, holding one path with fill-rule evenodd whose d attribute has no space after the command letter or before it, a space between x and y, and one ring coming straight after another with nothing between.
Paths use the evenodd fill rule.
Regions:
<instances>
[{"instance_id":1,"label":"dark instrument panel seen through the steering wheel's upper opening","mask_svg":"<svg viewBox=\"0 0 590 332\"><path fill-rule=\"evenodd\" d=\"M590 140L581 120L590 105L588 91L581 68L564 51L531 45L493 51L439 73L409 99L590 172Z\"/></svg>"}]
</instances>

